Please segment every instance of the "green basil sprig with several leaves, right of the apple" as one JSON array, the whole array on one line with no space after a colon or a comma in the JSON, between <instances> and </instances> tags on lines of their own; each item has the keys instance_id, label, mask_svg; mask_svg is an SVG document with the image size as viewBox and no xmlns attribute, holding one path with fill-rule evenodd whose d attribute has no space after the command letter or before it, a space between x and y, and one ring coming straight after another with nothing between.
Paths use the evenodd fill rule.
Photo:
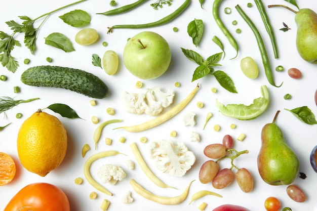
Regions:
<instances>
[{"instance_id":1,"label":"green basil sprig with several leaves, right of the apple","mask_svg":"<svg viewBox=\"0 0 317 211\"><path fill-rule=\"evenodd\" d=\"M197 79L200 79L208 74L213 75L216 80L219 82L220 86L226 89L227 91L231 93L237 93L234 83L232 79L223 71L221 70L214 70L214 67L221 66L221 64L218 64L218 62L221 60L222 52L214 54L210 57L208 57L205 61L203 57L193 51L188 49L182 49L183 54L191 61L195 62L199 66L196 67L191 82Z\"/></svg>"}]
</instances>

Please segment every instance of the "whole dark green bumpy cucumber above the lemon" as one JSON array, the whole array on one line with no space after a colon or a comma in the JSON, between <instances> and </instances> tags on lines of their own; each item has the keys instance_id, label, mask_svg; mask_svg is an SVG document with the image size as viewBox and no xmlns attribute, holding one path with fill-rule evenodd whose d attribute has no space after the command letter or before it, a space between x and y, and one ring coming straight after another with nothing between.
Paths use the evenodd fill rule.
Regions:
<instances>
[{"instance_id":1,"label":"whole dark green bumpy cucumber above the lemon","mask_svg":"<svg viewBox=\"0 0 317 211\"><path fill-rule=\"evenodd\" d=\"M62 88L91 98L102 99L108 96L108 87L99 77L69 67L30 67L21 74L21 81L29 86Z\"/></svg>"}]
</instances>

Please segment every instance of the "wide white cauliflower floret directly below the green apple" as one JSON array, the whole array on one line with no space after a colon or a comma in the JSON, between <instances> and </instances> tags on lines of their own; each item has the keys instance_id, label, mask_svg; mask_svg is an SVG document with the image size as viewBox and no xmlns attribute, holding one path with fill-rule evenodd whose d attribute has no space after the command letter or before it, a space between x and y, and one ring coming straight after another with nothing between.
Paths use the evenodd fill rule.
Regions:
<instances>
[{"instance_id":1,"label":"wide white cauliflower floret directly below the green apple","mask_svg":"<svg viewBox=\"0 0 317 211\"><path fill-rule=\"evenodd\" d=\"M123 100L126 110L129 113L146 113L151 116L159 115L163 108L173 103L175 92L168 89L166 93L162 92L160 87L145 89L140 93L123 93Z\"/></svg>"}]
</instances>

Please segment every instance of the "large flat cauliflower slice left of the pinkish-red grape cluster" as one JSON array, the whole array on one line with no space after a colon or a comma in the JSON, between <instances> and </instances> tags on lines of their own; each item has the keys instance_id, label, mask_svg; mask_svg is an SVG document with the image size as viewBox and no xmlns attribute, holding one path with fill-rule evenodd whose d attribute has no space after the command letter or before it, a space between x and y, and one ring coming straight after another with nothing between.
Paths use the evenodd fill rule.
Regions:
<instances>
[{"instance_id":1,"label":"large flat cauliflower slice left of the pinkish-red grape cluster","mask_svg":"<svg viewBox=\"0 0 317 211\"><path fill-rule=\"evenodd\" d=\"M169 140L158 140L149 144L150 157L155 161L155 167L172 176L182 177L196 161L193 152L182 142L175 145Z\"/></svg>"}]
</instances>

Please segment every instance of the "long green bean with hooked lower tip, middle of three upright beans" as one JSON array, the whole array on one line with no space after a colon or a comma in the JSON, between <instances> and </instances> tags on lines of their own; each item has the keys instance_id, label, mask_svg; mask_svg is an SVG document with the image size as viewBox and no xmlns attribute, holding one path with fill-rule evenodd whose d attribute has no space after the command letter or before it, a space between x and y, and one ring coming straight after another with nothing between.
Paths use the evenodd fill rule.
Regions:
<instances>
[{"instance_id":1,"label":"long green bean with hooked lower tip, middle of three upright beans","mask_svg":"<svg viewBox=\"0 0 317 211\"><path fill-rule=\"evenodd\" d=\"M265 45L264 45L264 42L263 42L263 39L261 37L260 32L258 31L256 26L254 25L252 20L247 16L247 14L242 10L242 8L239 5L236 5L235 9L241 15L241 17L246 21L246 23L250 26L251 30L253 31L253 33L255 35L255 38L257 40L258 47L259 47L259 50L260 50L260 53L261 53L261 58L262 58L262 62L263 62L264 70L265 70L265 76L266 76L268 82L274 87L281 87L283 82L281 83L280 86L276 86L275 85L275 82L274 82L274 79L273 79L272 69L271 69L271 66L270 66L270 62L269 62L269 59L268 59L268 56L267 56Z\"/></svg>"}]
</instances>

